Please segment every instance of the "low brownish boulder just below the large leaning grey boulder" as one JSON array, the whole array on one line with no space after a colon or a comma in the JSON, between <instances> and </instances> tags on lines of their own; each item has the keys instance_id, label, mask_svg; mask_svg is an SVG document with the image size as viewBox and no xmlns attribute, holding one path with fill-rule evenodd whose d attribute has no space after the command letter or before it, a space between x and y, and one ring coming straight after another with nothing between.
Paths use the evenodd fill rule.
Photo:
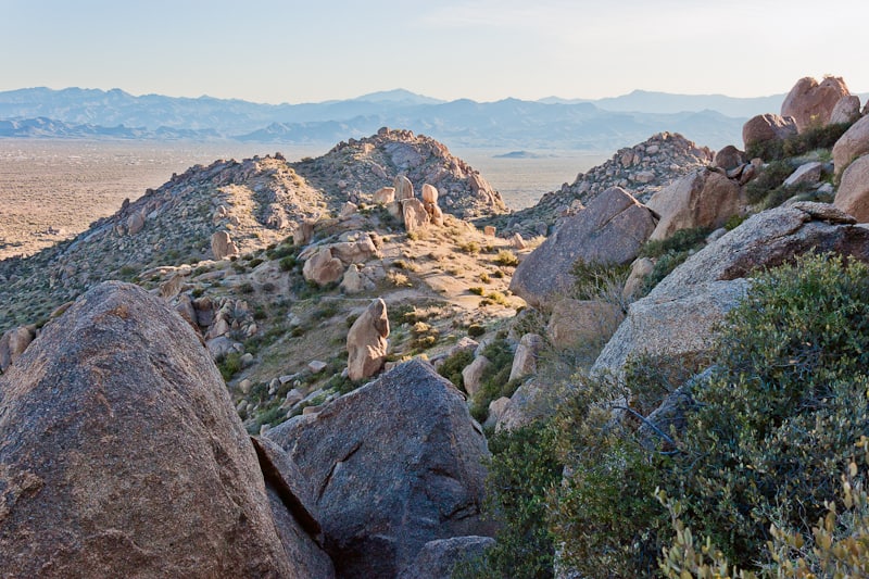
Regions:
<instances>
[{"instance_id":1,"label":"low brownish boulder just below the large leaning grey boulder","mask_svg":"<svg viewBox=\"0 0 869 579\"><path fill-rule=\"evenodd\" d=\"M546 336L555 348L600 344L601 348L625 318L617 303L562 300L552 307Z\"/></svg>"}]
</instances>

